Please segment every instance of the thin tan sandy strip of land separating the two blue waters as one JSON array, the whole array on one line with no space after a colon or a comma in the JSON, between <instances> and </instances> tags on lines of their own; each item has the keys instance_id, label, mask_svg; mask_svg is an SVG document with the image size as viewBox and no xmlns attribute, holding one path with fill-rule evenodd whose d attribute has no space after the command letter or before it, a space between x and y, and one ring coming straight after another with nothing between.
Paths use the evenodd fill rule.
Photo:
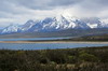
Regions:
<instances>
[{"instance_id":1,"label":"thin tan sandy strip of land separating the two blue waters","mask_svg":"<svg viewBox=\"0 0 108 71\"><path fill-rule=\"evenodd\" d=\"M100 43L100 44L108 44L107 41L0 41L0 43Z\"/></svg>"}]
</instances>

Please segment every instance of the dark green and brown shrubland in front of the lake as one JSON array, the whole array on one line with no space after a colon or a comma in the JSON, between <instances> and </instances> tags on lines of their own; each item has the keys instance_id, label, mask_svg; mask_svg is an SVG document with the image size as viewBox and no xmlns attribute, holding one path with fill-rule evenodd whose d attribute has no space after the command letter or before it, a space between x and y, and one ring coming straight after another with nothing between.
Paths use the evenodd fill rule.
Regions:
<instances>
[{"instance_id":1,"label":"dark green and brown shrubland in front of the lake","mask_svg":"<svg viewBox=\"0 0 108 71\"><path fill-rule=\"evenodd\" d=\"M108 71L108 46L0 51L0 71Z\"/></svg>"}]
</instances>

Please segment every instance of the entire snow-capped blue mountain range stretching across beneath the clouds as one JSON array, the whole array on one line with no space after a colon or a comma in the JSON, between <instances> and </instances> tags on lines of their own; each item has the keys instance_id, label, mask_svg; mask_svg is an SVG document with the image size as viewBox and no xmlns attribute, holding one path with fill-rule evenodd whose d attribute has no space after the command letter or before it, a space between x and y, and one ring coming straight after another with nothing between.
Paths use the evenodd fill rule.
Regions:
<instances>
[{"instance_id":1,"label":"entire snow-capped blue mountain range stretching across beneath the clouds","mask_svg":"<svg viewBox=\"0 0 108 71\"><path fill-rule=\"evenodd\" d=\"M72 16L57 15L55 17L46 17L42 20L28 20L24 25L10 25L5 27L1 33L13 32L33 32L33 31L57 31L65 29L93 29L108 28L108 19L97 17L77 18Z\"/></svg>"}]
</instances>

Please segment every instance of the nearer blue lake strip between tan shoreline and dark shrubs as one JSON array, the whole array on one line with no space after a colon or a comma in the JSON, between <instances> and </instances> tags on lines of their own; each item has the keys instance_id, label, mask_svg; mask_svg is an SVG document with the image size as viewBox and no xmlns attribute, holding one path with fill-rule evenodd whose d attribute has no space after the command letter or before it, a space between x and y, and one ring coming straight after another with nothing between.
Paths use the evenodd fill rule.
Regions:
<instances>
[{"instance_id":1,"label":"nearer blue lake strip between tan shoreline and dark shrubs","mask_svg":"<svg viewBox=\"0 0 108 71\"><path fill-rule=\"evenodd\" d=\"M0 43L0 49L56 49L91 46L108 46L106 43Z\"/></svg>"}]
</instances>

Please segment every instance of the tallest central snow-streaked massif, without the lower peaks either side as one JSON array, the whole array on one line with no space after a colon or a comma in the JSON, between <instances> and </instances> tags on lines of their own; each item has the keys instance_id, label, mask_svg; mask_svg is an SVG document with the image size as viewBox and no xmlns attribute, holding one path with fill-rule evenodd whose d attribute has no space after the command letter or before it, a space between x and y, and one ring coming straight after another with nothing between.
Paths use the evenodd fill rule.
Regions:
<instances>
[{"instance_id":1,"label":"tallest central snow-streaked massif, without the lower peaks either side","mask_svg":"<svg viewBox=\"0 0 108 71\"><path fill-rule=\"evenodd\" d=\"M29 30L31 31L55 31L64 29L84 29L89 26L76 18L76 17L64 17L63 15L56 17L48 17L43 20L40 20L33 25Z\"/></svg>"}]
</instances>

